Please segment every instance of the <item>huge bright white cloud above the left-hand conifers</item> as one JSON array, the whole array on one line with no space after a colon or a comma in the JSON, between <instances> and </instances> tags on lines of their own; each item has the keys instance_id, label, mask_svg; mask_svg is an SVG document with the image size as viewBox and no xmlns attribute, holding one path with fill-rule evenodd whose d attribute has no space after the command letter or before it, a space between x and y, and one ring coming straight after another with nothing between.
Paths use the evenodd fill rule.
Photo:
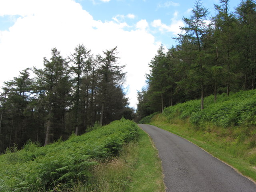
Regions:
<instances>
[{"instance_id":1,"label":"huge bright white cloud above the left-hand conifers","mask_svg":"<svg viewBox=\"0 0 256 192\"><path fill-rule=\"evenodd\" d=\"M139 21L136 30L126 31L125 22L94 20L73 0L37 0L29 7L20 3L20 9L12 9L15 2L9 1L12 3L0 4L1 11L22 16L8 31L0 31L0 86L25 68L42 68L43 57L50 58L54 47L66 57L78 44L84 44L94 55L118 46L119 62L126 64L128 96L131 106L136 106L136 90L144 86L148 63L159 46L145 30L146 20Z\"/></svg>"}]
</instances>

